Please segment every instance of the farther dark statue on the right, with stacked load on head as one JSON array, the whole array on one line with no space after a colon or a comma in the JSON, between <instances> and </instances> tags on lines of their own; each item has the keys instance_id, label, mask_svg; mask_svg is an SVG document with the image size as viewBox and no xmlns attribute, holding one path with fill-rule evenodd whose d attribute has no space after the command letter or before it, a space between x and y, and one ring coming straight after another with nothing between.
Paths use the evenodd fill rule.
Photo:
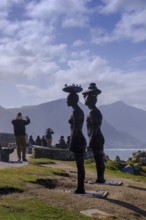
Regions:
<instances>
[{"instance_id":1,"label":"farther dark statue on the right, with stacked load on head","mask_svg":"<svg viewBox=\"0 0 146 220\"><path fill-rule=\"evenodd\" d=\"M92 183L104 183L104 137L101 132L102 114L96 107L97 96L101 93L95 83L89 85L88 90L82 94L85 99L85 105L89 108L86 118L87 133L89 136L89 147L92 149L96 163L97 178Z\"/></svg>"}]
</instances>

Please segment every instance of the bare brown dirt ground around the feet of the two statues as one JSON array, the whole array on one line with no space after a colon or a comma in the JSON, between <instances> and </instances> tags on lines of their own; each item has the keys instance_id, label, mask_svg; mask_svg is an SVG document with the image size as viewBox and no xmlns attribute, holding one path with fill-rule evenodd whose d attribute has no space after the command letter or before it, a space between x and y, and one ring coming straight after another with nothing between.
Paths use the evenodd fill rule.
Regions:
<instances>
[{"instance_id":1,"label":"bare brown dirt ground around the feet of the two statues","mask_svg":"<svg viewBox=\"0 0 146 220\"><path fill-rule=\"evenodd\" d=\"M55 206L68 210L89 210L98 209L111 214L115 219L122 220L144 220L146 219L146 184L128 179L105 176L106 180L122 181L121 186L111 186L104 184L85 183L86 191L107 191L108 195L104 199L90 198L84 195L76 195L70 192L76 187L76 169L66 166L62 163L49 165L51 167L66 170L68 176L58 176L53 189L42 189L38 191L38 196L48 195L48 202ZM94 179L95 173L86 171L86 181ZM55 190L55 191L54 191ZM55 193L55 196L54 196ZM106 215L97 215L97 218L106 217ZM95 216L93 219L97 219ZM111 218L110 218L111 219Z\"/></svg>"}]
</instances>

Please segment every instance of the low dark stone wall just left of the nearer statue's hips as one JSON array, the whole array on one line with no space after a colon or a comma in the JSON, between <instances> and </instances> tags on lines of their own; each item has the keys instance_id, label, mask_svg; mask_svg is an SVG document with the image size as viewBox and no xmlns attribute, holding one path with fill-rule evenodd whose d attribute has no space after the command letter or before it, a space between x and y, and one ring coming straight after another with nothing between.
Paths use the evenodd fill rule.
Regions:
<instances>
[{"instance_id":1,"label":"low dark stone wall just left of the nearer statue's hips","mask_svg":"<svg viewBox=\"0 0 146 220\"><path fill-rule=\"evenodd\" d=\"M72 161L74 160L74 155L68 149L59 149L59 148L48 148L33 145L32 148L32 157L33 158L49 158L52 160L64 160Z\"/></svg>"}]
</instances>

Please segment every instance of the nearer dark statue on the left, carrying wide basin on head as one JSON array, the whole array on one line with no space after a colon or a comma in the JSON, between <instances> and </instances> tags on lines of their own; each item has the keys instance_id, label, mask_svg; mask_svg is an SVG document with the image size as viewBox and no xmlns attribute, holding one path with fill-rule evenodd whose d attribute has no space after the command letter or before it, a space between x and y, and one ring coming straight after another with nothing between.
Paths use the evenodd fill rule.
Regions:
<instances>
[{"instance_id":1,"label":"nearer dark statue on the left, carrying wide basin on head","mask_svg":"<svg viewBox=\"0 0 146 220\"><path fill-rule=\"evenodd\" d=\"M81 86L76 86L74 84L71 86L65 85L63 91L69 93L67 97L67 105L73 108L72 115L68 122L71 129L69 149L74 153L77 166L77 188L74 193L84 194L84 152L86 148L86 139L82 133L84 113L78 105L79 96L77 94L82 91L82 88Z\"/></svg>"}]
</instances>

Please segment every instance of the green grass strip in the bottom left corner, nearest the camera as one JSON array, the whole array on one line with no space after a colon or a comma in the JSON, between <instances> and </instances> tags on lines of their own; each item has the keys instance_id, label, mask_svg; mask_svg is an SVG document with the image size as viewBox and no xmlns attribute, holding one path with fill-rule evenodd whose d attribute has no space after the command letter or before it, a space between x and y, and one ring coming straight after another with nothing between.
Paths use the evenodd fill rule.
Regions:
<instances>
[{"instance_id":1,"label":"green grass strip in the bottom left corner, nearest the camera","mask_svg":"<svg viewBox=\"0 0 146 220\"><path fill-rule=\"evenodd\" d=\"M2 220L89 220L79 212L49 206L44 200L5 198L0 202Z\"/></svg>"}]
</instances>

